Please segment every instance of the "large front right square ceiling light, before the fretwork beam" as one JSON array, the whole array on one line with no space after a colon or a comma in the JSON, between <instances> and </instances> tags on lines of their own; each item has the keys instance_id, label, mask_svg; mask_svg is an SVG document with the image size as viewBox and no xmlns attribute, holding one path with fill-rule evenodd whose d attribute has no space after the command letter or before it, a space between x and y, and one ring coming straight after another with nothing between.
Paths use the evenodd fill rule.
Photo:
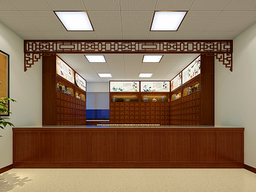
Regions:
<instances>
[{"instance_id":1,"label":"large front right square ceiling light, before the fretwork beam","mask_svg":"<svg viewBox=\"0 0 256 192\"><path fill-rule=\"evenodd\" d=\"M150 31L177 31L187 12L155 12Z\"/></svg>"}]
</instances>

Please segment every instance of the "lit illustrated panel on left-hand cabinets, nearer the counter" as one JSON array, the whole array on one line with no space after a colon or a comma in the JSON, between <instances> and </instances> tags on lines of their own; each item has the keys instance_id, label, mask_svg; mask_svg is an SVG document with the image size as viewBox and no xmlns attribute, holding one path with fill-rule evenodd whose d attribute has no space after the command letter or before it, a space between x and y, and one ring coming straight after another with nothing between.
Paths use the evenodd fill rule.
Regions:
<instances>
[{"instance_id":1,"label":"lit illustrated panel on left-hand cabinets, nearer the counter","mask_svg":"<svg viewBox=\"0 0 256 192\"><path fill-rule=\"evenodd\" d=\"M64 79L67 79L71 83L75 84L74 70L70 68L64 61L62 61L58 56L56 56L56 73Z\"/></svg>"}]
</instances>

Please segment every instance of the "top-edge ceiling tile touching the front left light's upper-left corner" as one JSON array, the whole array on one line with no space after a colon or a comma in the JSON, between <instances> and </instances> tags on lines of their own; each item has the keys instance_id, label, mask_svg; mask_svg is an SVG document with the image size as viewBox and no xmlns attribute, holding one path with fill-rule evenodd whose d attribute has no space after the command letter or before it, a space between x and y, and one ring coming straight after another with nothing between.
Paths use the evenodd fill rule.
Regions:
<instances>
[{"instance_id":1,"label":"top-edge ceiling tile touching the front left light's upper-left corner","mask_svg":"<svg viewBox=\"0 0 256 192\"><path fill-rule=\"evenodd\" d=\"M35 0L8 0L13 4L18 10L51 10L51 7L46 3L46 1L35 1Z\"/></svg>"}]
</instances>

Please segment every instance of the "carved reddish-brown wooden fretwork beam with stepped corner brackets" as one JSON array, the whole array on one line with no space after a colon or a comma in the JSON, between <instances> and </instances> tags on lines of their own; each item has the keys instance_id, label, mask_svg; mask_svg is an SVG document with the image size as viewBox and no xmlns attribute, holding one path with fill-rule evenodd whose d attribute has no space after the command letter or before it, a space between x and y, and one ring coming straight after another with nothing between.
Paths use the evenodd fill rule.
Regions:
<instances>
[{"instance_id":1,"label":"carved reddish-brown wooden fretwork beam with stepped corner brackets","mask_svg":"<svg viewBox=\"0 0 256 192\"><path fill-rule=\"evenodd\" d=\"M24 40L25 71L43 54L211 54L232 71L232 40Z\"/></svg>"}]
</instances>

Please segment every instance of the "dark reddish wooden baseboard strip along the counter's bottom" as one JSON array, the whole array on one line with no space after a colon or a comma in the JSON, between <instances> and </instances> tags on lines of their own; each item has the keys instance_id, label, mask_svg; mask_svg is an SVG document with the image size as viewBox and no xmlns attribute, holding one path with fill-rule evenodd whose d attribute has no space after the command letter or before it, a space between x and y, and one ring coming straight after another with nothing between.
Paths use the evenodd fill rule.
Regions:
<instances>
[{"instance_id":1,"label":"dark reddish wooden baseboard strip along the counter's bottom","mask_svg":"<svg viewBox=\"0 0 256 192\"><path fill-rule=\"evenodd\" d=\"M223 164L202 164L202 163L172 163L172 164L150 164L150 163L126 163L126 164L45 164L45 163L16 163L13 168L243 168L243 163L223 163Z\"/></svg>"}]
</instances>

